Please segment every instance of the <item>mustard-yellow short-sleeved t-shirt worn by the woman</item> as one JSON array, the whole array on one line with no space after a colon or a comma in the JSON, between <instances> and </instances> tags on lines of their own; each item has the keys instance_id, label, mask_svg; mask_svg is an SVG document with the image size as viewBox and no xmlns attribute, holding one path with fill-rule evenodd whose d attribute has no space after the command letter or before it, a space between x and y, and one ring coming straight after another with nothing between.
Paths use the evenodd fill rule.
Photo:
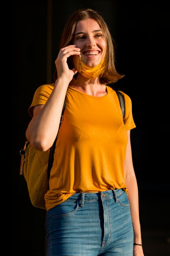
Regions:
<instances>
[{"instance_id":1,"label":"mustard-yellow short-sleeved t-shirt worn by the woman","mask_svg":"<svg viewBox=\"0 0 170 256\"><path fill-rule=\"evenodd\" d=\"M126 189L124 159L127 130L135 128L130 97L124 94L125 124L116 92L106 86L107 94L90 96L68 86L64 120L55 146L50 174L50 189L45 194L46 210L75 192L101 192ZM48 100L53 85L42 85L29 108Z\"/></svg>"}]
</instances>

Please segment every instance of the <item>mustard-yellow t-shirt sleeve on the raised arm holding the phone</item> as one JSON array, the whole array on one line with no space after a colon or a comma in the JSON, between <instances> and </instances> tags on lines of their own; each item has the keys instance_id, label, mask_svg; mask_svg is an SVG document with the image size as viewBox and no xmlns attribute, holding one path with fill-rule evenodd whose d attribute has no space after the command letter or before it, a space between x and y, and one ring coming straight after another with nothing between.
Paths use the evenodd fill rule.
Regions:
<instances>
[{"instance_id":1,"label":"mustard-yellow t-shirt sleeve on the raised arm holding the phone","mask_svg":"<svg viewBox=\"0 0 170 256\"><path fill-rule=\"evenodd\" d=\"M33 117L33 108L37 105L45 105L54 88L53 84L40 85L34 93L33 101L29 107L29 114Z\"/></svg>"}]
</instances>

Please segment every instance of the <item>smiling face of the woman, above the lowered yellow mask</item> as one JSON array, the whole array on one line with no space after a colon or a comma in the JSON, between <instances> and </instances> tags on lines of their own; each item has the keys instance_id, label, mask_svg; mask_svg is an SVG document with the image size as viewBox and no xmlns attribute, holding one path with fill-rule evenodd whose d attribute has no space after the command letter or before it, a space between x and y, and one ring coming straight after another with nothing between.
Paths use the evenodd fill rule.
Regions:
<instances>
[{"instance_id":1,"label":"smiling face of the woman, above the lowered yellow mask","mask_svg":"<svg viewBox=\"0 0 170 256\"><path fill-rule=\"evenodd\" d=\"M106 54L106 40L103 31L93 19L77 22L73 44L80 48L82 61L88 67L96 67Z\"/></svg>"}]
</instances>

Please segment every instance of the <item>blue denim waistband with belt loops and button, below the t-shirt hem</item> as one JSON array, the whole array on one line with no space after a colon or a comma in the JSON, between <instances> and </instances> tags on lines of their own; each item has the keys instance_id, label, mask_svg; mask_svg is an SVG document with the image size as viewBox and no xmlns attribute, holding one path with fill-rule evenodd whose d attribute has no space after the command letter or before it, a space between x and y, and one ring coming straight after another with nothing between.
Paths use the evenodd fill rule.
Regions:
<instances>
[{"instance_id":1,"label":"blue denim waistband with belt loops and button, below the t-shirt hem","mask_svg":"<svg viewBox=\"0 0 170 256\"><path fill-rule=\"evenodd\" d=\"M68 198L66 201L81 201L81 205L84 205L84 202L88 201L104 201L111 198L114 198L117 202L117 196L124 193L124 189L113 189L113 190L107 190L97 193L87 193L87 192L76 192L73 194L70 198Z\"/></svg>"}]
</instances>

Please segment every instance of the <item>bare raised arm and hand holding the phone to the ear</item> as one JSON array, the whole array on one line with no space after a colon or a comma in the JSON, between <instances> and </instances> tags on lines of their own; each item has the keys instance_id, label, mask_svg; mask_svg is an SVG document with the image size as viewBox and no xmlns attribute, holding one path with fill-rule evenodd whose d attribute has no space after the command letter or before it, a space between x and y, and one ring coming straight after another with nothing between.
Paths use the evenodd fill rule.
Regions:
<instances>
[{"instance_id":1,"label":"bare raised arm and hand holding the phone to the ear","mask_svg":"<svg viewBox=\"0 0 170 256\"><path fill-rule=\"evenodd\" d=\"M73 75L77 73L74 67L70 70L67 65L67 58L74 54L80 54L76 45L60 49L55 61L58 78L54 89L44 106L38 105L33 109L33 118L26 129L26 138L37 150L49 149L57 135L66 91Z\"/></svg>"}]
</instances>

